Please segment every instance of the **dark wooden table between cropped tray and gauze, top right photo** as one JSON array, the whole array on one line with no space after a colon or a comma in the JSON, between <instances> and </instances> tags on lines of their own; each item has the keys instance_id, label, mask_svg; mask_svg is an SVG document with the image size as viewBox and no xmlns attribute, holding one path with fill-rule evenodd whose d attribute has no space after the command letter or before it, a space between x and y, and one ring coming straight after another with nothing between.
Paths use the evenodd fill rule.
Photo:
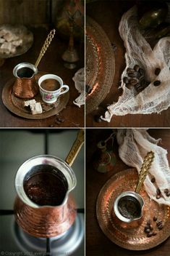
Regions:
<instances>
[{"instance_id":1,"label":"dark wooden table between cropped tray and gauze, top right photo","mask_svg":"<svg viewBox=\"0 0 170 256\"><path fill-rule=\"evenodd\" d=\"M94 116L103 115L107 105L118 100L122 89L118 89L122 71L125 68L123 41L119 36L119 22L124 12L132 7L135 1L95 1L86 5L86 15L93 17L106 32L112 44L116 45L114 83L100 107L86 116L87 127L170 127L170 108L161 114L128 114L126 116L113 116L110 123L96 122Z\"/></svg>"}]
</instances>

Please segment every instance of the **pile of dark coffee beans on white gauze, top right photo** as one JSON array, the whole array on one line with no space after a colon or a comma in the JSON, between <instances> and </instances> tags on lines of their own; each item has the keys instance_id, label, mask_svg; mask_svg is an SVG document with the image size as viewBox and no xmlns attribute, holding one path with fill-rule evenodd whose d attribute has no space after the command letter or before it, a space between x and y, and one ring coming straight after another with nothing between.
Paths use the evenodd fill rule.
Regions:
<instances>
[{"instance_id":1,"label":"pile of dark coffee beans on white gauze, top right photo","mask_svg":"<svg viewBox=\"0 0 170 256\"><path fill-rule=\"evenodd\" d=\"M145 71L139 65L135 65L134 68L127 68L127 76L124 76L123 81L128 89L135 87L137 92L142 92L150 84L149 81L145 80Z\"/></svg>"}]
</instances>

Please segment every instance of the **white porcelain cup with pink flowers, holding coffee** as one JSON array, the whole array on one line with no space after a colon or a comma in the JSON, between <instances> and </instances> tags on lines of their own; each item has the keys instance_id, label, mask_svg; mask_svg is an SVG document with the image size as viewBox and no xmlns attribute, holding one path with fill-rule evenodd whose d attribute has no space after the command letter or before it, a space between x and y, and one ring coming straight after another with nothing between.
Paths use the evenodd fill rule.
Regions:
<instances>
[{"instance_id":1,"label":"white porcelain cup with pink flowers, holding coffee","mask_svg":"<svg viewBox=\"0 0 170 256\"><path fill-rule=\"evenodd\" d=\"M55 90L47 90L41 87L43 81L47 81L48 79L54 79L59 82L59 89ZM62 79L59 76L48 74L41 76L41 78L38 80L38 85L41 93L41 97L43 99L43 102L45 103L55 103L58 99L59 95L62 95L69 91L69 87L66 84L63 84Z\"/></svg>"}]
</instances>

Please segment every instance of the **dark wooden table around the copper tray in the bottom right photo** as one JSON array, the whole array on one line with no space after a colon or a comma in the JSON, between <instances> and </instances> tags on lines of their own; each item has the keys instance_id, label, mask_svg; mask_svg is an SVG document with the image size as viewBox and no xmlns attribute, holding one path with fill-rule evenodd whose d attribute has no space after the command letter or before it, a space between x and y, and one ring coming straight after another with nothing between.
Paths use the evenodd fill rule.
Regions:
<instances>
[{"instance_id":1,"label":"dark wooden table around the copper tray in the bottom right photo","mask_svg":"<svg viewBox=\"0 0 170 256\"><path fill-rule=\"evenodd\" d=\"M130 251L123 249L112 243L101 231L95 214L96 200L98 193L109 178L124 169L126 164L119 159L118 145L114 140L114 153L116 155L116 166L114 171L99 173L93 169L93 153L96 143L106 139L111 134L111 129L86 129L86 255L87 256L127 256L127 255L147 255L147 256L168 256L170 252L170 239L167 239L158 247L145 251ZM149 133L156 139L162 139L161 147L168 151L170 162L170 130L150 129Z\"/></svg>"}]
</instances>

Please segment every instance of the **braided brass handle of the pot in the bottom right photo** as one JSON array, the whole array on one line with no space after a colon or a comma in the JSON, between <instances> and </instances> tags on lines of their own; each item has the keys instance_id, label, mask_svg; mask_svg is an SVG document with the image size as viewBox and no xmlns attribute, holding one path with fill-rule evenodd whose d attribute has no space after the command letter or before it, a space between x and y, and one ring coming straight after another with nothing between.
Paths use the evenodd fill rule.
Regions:
<instances>
[{"instance_id":1,"label":"braided brass handle of the pot in the bottom right photo","mask_svg":"<svg viewBox=\"0 0 170 256\"><path fill-rule=\"evenodd\" d=\"M154 159L153 151L148 152L147 155L145 156L144 160L143 160L143 165L140 169L139 180L138 180L138 183L137 183L137 187L135 189L136 193L139 193L140 188L143 185L143 182L145 180L145 177L148 175L148 171L149 171L150 166L153 162L153 159Z\"/></svg>"}]
</instances>

